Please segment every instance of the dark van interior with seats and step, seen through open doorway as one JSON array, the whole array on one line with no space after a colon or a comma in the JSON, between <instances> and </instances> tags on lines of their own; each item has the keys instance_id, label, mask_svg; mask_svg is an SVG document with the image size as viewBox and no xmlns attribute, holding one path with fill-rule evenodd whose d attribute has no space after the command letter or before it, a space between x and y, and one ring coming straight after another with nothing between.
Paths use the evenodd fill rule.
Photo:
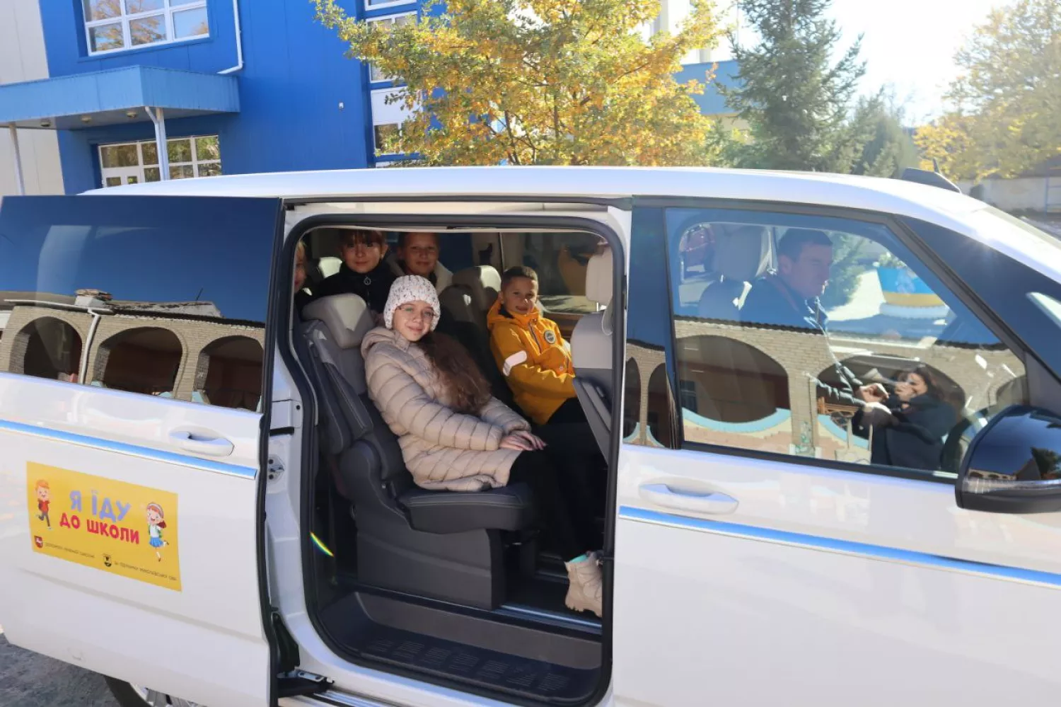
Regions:
<instances>
[{"instance_id":1,"label":"dark van interior with seats and step, seen through open doorway","mask_svg":"<svg viewBox=\"0 0 1061 707\"><path fill-rule=\"evenodd\" d=\"M393 255L395 234L388 230ZM303 237L311 291L338 270L341 234L342 228L323 227ZM450 331L472 353L494 395L522 414L490 353L486 312L497 299L503 268L525 262L519 245L560 234L576 241L585 237L593 248L584 258L585 296L592 306L569 317L576 324L564 335L578 372L578 400L608 449L612 261L597 236L439 232L440 262L448 265L449 257L467 264L454 271L440 303L443 316L451 317ZM566 608L567 573L533 530L529 488L417 487L397 437L366 391L361 341L373 325L364 301L355 295L321 297L306 306L301 317L296 353L307 364L318 404L320 452L314 483L307 484L316 542L311 553L316 593L308 599L317 607L323 633L355 661L455 680L464 689L564 704L588 700L602 675L602 622ZM594 521L603 538L601 516Z\"/></svg>"}]
</instances>

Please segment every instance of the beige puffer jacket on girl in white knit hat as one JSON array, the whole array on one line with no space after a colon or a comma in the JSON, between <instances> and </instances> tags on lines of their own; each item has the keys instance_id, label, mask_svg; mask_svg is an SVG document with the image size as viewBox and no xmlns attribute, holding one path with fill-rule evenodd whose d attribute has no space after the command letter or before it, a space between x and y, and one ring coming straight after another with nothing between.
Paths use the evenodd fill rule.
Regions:
<instances>
[{"instance_id":1,"label":"beige puffer jacket on girl in white knit hat","mask_svg":"<svg viewBox=\"0 0 1061 707\"><path fill-rule=\"evenodd\" d=\"M497 398L479 417L454 412L419 346L379 327L361 343L368 395L398 435L405 467L422 488L482 490L508 483L519 451L502 437L530 425Z\"/></svg>"}]
</instances>

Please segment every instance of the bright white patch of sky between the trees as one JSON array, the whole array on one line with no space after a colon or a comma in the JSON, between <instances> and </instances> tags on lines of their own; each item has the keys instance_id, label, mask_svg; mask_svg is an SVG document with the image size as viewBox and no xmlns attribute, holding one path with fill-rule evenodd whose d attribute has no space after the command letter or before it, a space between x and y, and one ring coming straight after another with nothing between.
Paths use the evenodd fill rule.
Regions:
<instances>
[{"instance_id":1,"label":"bright white patch of sky between the trees","mask_svg":"<svg viewBox=\"0 0 1061 707\"><path fill-rule=\"evenodd\" d=\"M958 74L954 54L995 7L1014 0L833 0L832 16L845 48L859 33L866 61L863 91L894 87L905 103L906 122L919 125L938 116L942 94Z\"/></svg>"}]
</instances>

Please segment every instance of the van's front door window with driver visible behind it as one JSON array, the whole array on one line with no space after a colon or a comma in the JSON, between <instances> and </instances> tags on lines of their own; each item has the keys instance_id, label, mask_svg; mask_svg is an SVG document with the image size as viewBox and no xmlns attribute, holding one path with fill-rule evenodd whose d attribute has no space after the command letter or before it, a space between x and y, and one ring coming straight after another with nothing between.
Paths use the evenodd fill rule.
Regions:
<instances>
[{"instance_id":1,"label":"van's front door window with driver visible behind it","mask_svg":"<svg viewBox=\"0 0 1061 707\"><path fill-rule=\"evenodd\" d=\"M686 445L954 472L984 420L1027 399L1021 359L886 225L696 208L665 223Z\"/></svg>"}]
</instances>

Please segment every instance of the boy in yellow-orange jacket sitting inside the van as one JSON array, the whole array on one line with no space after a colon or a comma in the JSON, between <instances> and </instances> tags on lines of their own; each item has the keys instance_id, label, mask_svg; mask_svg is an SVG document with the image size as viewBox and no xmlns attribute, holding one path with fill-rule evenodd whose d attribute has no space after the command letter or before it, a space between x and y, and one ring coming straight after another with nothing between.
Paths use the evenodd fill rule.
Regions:
<instances>
[{"instance_id":1,"label":"boy in yellow-orange jacket sitting inside the van","mask_svg":"<svg viewBox=\"0 0 1061 707\"><path fill-rule=\"evenodd\" d=\"M493 359L512 390L516 404L536 425L585 421L575 397L571 347L556 323L538 309L537 273L522 266L505 271L486 326Z\"/></svg>"}]
</instances>

